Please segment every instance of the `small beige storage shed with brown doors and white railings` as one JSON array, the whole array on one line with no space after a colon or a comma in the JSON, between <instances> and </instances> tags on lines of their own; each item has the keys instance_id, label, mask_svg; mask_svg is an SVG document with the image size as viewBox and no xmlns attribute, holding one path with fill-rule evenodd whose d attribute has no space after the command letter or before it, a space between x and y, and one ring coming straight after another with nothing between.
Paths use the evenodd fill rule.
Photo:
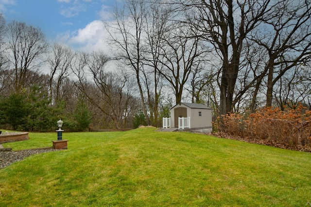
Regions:
<instances>
[{"instance_id":1,"label":"small beige storage shed with brown doors and white railings","mask_svg":"<svg viewBox=\"0 0 311 207\"><path fill-rule=\"evenodd\" d=\"M203 104L179 103L170 110L170 127L178 130L210 132L212 130L211 108ZM164 123L164 121L163 121ZM164 124L163 124L164 125ZM163 126L164 128L165 126Z\"/></svg>"}]
</instances>

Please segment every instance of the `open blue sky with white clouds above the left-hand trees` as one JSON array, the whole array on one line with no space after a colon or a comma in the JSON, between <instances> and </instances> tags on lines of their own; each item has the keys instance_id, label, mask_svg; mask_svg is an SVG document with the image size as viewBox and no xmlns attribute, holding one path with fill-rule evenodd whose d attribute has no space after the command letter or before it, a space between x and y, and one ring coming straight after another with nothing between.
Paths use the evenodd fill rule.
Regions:
<instances>
[{"instance_id":1,"label":"open blue sky with white clouds above the left-hand trees","mask_svg":"<svg viewBox=\"0 0 311 207\"><path fill-rule=\"evenodd\" d=\"M93 51L106 46L103 20L118 0L0 0L0 13L12 20L39 27L50 43Z\"/></svg>"}]
</instances>

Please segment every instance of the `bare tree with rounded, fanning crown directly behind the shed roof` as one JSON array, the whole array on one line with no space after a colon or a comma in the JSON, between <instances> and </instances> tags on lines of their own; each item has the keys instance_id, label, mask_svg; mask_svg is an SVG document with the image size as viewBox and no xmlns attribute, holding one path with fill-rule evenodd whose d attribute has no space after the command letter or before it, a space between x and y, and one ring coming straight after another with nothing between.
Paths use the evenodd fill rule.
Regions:
<instances>
[{"instance_id":1,"label":"bare tree with rounded, fanning crown directly behind the shed roof","mask_svg":"<svg viewBox=\"0 0 311 207\"><path fill-rule=\"evenodd\" d=\"M172 87L176 104L182 101L183 91L190 75L199 74L204 55L207 52L201 39L193 35L187 25L174 23L162 36L160 62L163 68L158 72Z\"/></svg>"}]
</instances>

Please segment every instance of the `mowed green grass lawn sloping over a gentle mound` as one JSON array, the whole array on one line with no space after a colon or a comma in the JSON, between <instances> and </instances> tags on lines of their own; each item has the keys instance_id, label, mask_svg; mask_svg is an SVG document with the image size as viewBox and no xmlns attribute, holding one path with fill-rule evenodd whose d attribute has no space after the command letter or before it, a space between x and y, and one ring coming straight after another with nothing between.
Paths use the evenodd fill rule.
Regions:
<instances>
[{"instance_id":1,"label":"mowed green grass lawn sloping over a gentle mound","mask_svg":"<svg viewBox=\"0 0 311 207\"><path fill-rule=\"evenodd\" d=\"M186 132L64 133L0 170L0 206L310 206L311 154ZM3 144L52 146L56 133Z\"/></svg>"}]
</instances>

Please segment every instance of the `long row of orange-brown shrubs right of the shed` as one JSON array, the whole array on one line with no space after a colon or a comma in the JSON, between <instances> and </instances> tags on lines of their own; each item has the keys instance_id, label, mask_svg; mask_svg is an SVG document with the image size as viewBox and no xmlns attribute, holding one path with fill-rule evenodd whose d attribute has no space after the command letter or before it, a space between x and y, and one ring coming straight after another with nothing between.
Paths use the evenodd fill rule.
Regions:
<instances>
[{"instance_id":1,"label":"long row of orange-brown shrubs right of the shed","mask_svg":"<svg viewBox=\"0 0 311 207\"><path fill-rule=\"evenodd\" d=\"M311 111L297 107L266 107L248 116L226 114L213 123L230 136L259 138L290 146L311 146Z\"/></svg>"}]
</instances>

